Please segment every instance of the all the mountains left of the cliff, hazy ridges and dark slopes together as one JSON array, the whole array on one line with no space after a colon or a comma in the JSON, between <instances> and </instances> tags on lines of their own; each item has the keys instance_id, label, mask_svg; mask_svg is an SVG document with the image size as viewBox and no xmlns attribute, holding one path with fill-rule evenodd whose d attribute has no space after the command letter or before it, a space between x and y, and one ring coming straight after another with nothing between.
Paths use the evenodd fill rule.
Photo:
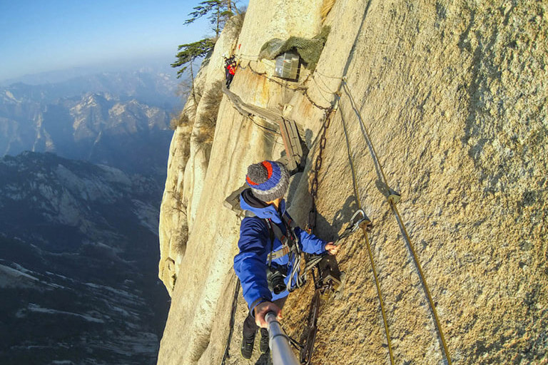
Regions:
<instances>
[{"instance_id":1,"label":"all the mountains left of the cliff, hazy ridges and dark slopes together","mask_svg":"<svg viewBox=\"0 0 548 365\"><path fill-rule=\"evenodd\" d=\"M135 71L0 88L0 364L156 364L176 86Z\"/></svg>"}]
</instances>

